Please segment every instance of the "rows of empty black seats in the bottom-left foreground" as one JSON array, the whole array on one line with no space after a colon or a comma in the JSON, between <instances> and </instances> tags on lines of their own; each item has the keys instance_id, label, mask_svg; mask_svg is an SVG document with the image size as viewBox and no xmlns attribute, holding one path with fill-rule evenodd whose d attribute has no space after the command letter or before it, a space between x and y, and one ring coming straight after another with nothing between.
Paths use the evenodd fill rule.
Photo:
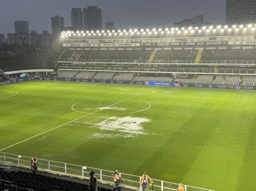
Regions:
<instances>
[{"instance_id":1,"label":"rows of empty black seats in the bottom-left foreground","mask_svg":"<svg viewBox=\"0 0 256 191\"><path fill-rule=\"evenodd\" d=\"M67 181L45 176L45 175L33 175L28 172L5 172L0 171L0 179L5 181L11 181L13 183L5 183L5 189L10 191L89 191L89 186L87 184L82 184L76 181ZM2 190L2 184L0 185L0 190ZM100 188L98 187L98 190Z\"/></svg>"}]
</instances>

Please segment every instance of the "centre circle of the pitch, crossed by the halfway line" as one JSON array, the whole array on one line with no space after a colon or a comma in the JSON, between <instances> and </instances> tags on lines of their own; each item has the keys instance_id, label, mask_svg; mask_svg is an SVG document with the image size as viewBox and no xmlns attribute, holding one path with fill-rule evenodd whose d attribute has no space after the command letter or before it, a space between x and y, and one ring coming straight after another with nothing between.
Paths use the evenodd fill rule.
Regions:
<instances>
[{"instance_id":1,"label":"centre circle of the pitch, crossed by the halfway line","mask_svg":"<svg viewBox=\"0 0 256 191\"><path fill-rule=\"evenodd\" d=\"M136 99L104 98L75 103L72 110L92 115L121 115L142 112L150 108L150 103Z\"/></svg>"}]
</instances>

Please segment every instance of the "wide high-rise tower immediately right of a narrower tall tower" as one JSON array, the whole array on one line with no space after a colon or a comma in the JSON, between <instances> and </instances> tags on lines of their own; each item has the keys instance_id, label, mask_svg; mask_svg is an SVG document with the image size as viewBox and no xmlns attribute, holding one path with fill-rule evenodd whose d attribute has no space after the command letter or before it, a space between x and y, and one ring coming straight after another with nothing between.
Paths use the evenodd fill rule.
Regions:
<instances>
[{"instance_id":1,"label":"wide high-rise tower immediately right of a narrower tall tower","mask_svg":"<svg viewBox=\"0 0 256 191\"><path fill-rule=\"evenodd\" d=\"M97 8L97 6L83 8L83 26L85 31L101 31L101 9Z\"/></svg>"}]
</instances>

